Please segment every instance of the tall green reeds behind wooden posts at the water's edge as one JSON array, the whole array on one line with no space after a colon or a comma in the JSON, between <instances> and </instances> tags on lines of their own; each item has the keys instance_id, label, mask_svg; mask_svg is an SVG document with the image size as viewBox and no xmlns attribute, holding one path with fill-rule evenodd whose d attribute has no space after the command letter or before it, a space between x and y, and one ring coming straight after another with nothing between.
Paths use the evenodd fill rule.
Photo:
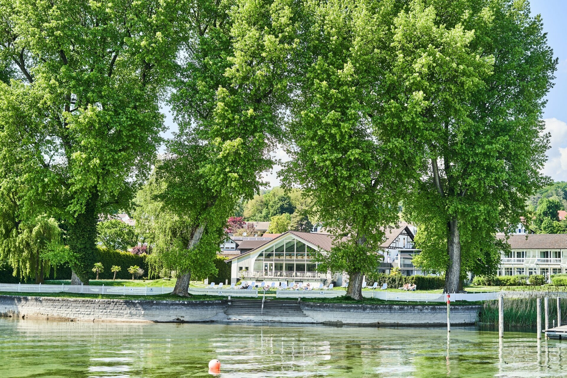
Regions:
<instances>
[{"instance_id":1,"label":"tall green reeds behind wooden posts at the water's edge","mask_svg":"<svg viewBox=\"0 0 567 378\"><path fill-rule=\"evenodd\" d=\"M505 298L504 325L510 327L535 328L538 320L536 298ZM541 324L545 326L543 299L541 300ZM549 327L557 326L557 299L549 298ZM484 301L479 314L481 324L498 325L498 301ZM561 299L561 324L567 325L567 299Z\"/></svg>"}]
</instances>

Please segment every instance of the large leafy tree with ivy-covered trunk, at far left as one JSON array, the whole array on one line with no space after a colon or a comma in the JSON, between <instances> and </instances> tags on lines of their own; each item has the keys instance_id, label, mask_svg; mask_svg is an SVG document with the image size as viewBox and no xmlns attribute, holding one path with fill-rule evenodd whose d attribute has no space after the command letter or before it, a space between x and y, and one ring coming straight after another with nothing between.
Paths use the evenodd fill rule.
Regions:
<instances>
[{"instance_id":1,"label":"large leafy tree with ivy-covered trunk, at far left","mask_svg":"<svg viewBox=\"0 0 567 378\"><path fill-rule=\"evenodd\" d=\"M0 1L0 60L17 70L0 83L0 156L26 164L20 206L52 199L74 283L88 284L98 215L128 206L161 142L180 6Z\"/></svg>"}]
</instances>

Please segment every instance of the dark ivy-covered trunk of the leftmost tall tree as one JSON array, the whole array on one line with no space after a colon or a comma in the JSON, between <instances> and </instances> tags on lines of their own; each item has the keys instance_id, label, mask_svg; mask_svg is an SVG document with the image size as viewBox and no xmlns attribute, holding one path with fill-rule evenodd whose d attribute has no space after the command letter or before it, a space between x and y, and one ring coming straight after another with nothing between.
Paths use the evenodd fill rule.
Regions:
<instances>
[{"instance_id":1,"label":"dark ivy-covered trunk of the leftmost tall tree","mask_svg":"<svg viewBox=\"0 0 567 378\"><path fill-rule=\"evenodd\" d=\"M81 284L88 285L88 275L91 271L89 267L94 264L96 248L96 223L98 222L98 212L96 205L98 194L93 193L87 200L83 213L75 216L74 223L69 224L67 231L67 245L73 252L75 262L71 264L71 270L76 276L75 279ZM73 283L71 276L71 283Z\"/></svg>"}]
</instances>

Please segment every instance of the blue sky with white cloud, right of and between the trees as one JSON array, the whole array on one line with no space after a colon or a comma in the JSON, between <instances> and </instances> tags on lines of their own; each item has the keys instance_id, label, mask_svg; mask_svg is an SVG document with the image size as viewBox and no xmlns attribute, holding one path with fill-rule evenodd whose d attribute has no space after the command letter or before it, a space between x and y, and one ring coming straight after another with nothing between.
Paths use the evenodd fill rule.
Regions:
<instances>
[{"instance_id":1,"label":"blue sky with white cloud, right of and between the trees","mask_svg":"<svg viewBox=\"0 0 567 378\"><path fill-rule=\"evenodd\" d=\"M559 60L555 73L555 86L547 95L547 104L543 113L545 130L551 133L551 147L547 151L548 160L542 173L555 181L567 181L567 38L565 38L567 0L532 0L530 3L532 15L541 15L548 44L553 49L553 56ZM177 126L169 108L164 106L162 112L166 114L168 128L168 131L162 135L171 138ZM160 148L160 152L163 151L164 148ZM289 160L281 148L278 148L273 156L283 161ZM265 181L270 182L270 187L280 185L280 180L277 178L280 169L280 165L276 165L271 172L264 175Z\"/></svg>"}]
</instances>

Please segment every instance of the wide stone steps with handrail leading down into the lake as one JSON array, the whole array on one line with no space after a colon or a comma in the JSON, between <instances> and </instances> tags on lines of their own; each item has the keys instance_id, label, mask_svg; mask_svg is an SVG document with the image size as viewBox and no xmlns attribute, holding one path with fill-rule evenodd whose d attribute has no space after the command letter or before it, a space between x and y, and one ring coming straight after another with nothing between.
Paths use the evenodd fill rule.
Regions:
<instances>
[{"instance_id":1,"label":"wide stone steps with handrail leading down into the lake","mask_svg":"<svg viewBox=\"0 0 567 378\"><path fill-rule=\"evenodd\" d=\"M274 320L285 321L290 318L307 320L297 300L273 300L264 301L262 311L261 299L231 299L227 305L225 314L229 319L243 320ZM307 318L307 319L305 319Z\"/></svg>"}]
</instances>

